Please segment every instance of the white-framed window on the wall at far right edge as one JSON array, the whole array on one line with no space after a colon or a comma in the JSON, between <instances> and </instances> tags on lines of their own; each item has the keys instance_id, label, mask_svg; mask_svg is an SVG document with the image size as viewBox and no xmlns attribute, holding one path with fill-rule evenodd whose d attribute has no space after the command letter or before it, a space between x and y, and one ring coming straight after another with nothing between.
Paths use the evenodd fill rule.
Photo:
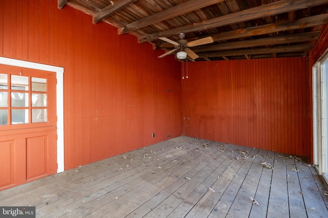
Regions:
<instances>
[{"instance_id":1,"label":"white-framed window on the wall at far right edge","mask_svg":"<svg viewBox=\"0 0 328 218\"><path fill-rule=\"evenodd\" d=\"M328 183L328 51L313 66L314 164Z\"/></svg>"}]
</instances>

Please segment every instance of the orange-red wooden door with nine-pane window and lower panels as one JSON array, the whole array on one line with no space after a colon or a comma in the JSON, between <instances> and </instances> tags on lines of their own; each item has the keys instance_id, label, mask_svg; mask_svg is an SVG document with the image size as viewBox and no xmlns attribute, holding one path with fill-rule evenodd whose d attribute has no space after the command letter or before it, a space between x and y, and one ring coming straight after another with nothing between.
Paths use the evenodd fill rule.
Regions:
<instances>
[{"instance_id":1,"label":"orange-red wooden door with nine-pane window and lower panels","mask_svg":"<svg viewBox=\"0 0 328 218\"><path fill-rule=\"evenodd\" d=\"M0 190L57 171L56 74L0 64Z\"/></svg>"}]
</instances>

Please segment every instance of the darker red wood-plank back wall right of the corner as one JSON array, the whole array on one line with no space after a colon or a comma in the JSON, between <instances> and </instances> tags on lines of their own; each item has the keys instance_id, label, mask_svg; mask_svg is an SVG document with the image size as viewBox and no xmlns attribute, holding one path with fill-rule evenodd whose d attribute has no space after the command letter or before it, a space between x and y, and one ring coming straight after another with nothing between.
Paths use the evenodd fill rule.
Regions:
<instances>
[{"instance_id":1,"label":"darker red wood-plank back wall right of the corner","mask_svg":"<svg viewBox=\"0 0 328 218\"><path fill-rule=\"evenodd\" d=\"M312 116L305 59L188 65L189 78L182 80L183 135L310 155Z\"/></svg>"}]
</instances>

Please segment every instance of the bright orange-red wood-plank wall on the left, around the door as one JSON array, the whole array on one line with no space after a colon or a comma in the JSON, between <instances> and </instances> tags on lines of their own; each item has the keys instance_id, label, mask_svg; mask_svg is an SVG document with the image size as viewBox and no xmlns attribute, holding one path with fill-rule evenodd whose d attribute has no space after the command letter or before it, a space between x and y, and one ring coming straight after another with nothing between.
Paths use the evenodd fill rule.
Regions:
<instances>
[{"instance_id":1,"label":"bright orange-red wood-plank wall on the left, around the door","mask_svg":"<svg viewBox=\"0 0 328 218\"><path fill-rule=\"evenodd\" d=\"M180 67L161 53L56 0L0 1L0 56L64 67L65 169L181 135Z\"/></svg>"}]
</instances>

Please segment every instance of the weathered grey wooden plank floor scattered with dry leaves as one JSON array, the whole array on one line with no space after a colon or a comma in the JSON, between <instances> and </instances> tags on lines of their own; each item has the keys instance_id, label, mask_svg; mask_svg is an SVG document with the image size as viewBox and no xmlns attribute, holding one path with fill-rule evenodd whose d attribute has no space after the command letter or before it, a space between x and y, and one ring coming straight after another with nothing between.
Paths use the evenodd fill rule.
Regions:
<instances>
[{"instance_id":1,"label":"weathered grey wooden plank floor scattered with dry leaves","mask_svg":"<svg viewBox=\"0 0 328 218\"><path fill-rule=\"evenodd\" d=\"M36 217L328 217L305 163L180 136L0 191L0 205L36 206Z\"/></svg>"}]
</instances>

